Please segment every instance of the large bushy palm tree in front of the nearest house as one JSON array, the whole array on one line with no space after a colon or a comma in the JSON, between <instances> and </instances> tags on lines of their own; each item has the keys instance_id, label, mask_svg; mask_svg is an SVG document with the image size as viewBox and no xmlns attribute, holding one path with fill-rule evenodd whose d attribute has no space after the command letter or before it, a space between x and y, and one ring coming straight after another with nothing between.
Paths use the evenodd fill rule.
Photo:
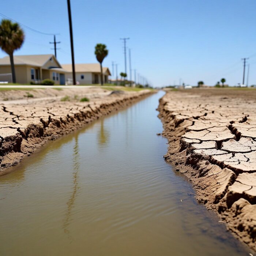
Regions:
<instances>
[{"instance_id":1,"label":"large bushy palm tree in front of the nearest house","mask_svg":"<svg viewBox=\"0 0 256 256\"><path fill-rule=\"evenodd\" d=\"M22 46L24 38L24 32L18 23L12 23L12 21L8 19L3 19L1 21L0 47L10 56L13 83L16 83L13 53Z\"/></svg>"}]
</instances>

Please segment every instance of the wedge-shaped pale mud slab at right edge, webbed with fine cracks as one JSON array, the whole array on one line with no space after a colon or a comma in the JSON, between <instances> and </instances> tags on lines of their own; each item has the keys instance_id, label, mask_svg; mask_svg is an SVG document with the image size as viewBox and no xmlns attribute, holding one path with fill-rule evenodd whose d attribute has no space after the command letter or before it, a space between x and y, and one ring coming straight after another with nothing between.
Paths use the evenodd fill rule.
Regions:
<instances>
[{"instance_id":1,"label":"wedge-shaped pale mud slab at right edge, webbed with fine cracks","mask_svg":"<svg viewBox=\"0 0 256 256\"><path fill-rule=\"evenodd\" d=\"M235 153L213 155L212 159L234 171L256 171L256 151L251 153Z\"/></svg>"}]
</instances>

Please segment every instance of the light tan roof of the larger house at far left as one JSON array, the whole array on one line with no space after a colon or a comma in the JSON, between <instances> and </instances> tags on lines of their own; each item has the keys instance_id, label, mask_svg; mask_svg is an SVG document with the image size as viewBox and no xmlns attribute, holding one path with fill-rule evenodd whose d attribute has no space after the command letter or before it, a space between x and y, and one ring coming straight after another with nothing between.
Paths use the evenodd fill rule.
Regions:
<instances>
[{"instance_id":1,"label":"light tan roof of the larger house at far left","mask_svg":"<svg viewBox=\"0 0 256 256\"><path fill-rule=\"evenodd\" d=\"M42 67L50 58L53 58L59 64L53 54L15 55L14 64ZM4 58L0 59L0 65L11 65L10 57L5 56Z\"/></svg>"}]
</instances>

